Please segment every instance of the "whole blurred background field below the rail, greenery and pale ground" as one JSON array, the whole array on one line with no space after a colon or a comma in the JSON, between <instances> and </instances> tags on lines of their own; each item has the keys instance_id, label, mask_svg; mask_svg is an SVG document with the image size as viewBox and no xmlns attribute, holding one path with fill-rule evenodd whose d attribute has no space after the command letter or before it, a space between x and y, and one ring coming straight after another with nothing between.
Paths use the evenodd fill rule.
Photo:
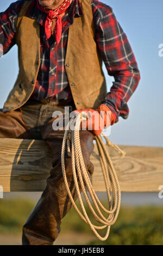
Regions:
<instances>
[{"instance_id":1,"label":"whole blurred background field below the rail, greenery and pale ground","mask_svg":"<svg viewBox=\"0 0 163 256\"><path fill-rule=\"evenodd\" d=\"M156 199L156 193L149 193L151 200L147 193L146 196L144 193L129 194L122 193L121 211L111 227L108 240L96 239L72 208L62 221L61 232L54 245L163 245L162 199ZM9 196L8 193L5 196L4 193L4 198L0 199L0 245L21 245L22 225L40 197L40 193L36 193L35 198L17 195ZM152 201L152 197L155 200ZM130 198L130 204L127 198ZM141 199L136 201L136 198L143 198L144 203ZM108 207L105 202L104 205ZM101 234L104 235L104 231Z\"/></svg>"}]
</instances>

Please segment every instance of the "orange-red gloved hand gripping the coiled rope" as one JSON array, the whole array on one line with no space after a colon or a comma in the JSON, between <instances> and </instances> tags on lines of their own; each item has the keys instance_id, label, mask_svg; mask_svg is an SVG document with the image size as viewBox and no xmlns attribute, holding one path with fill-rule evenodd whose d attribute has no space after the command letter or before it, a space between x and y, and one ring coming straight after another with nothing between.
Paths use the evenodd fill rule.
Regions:
<instances>
[{"instance_id":1,"label":"orange-red gloved hand gripping the coiled rope","mask_svg":"<svg viewBox=\"0 0 163 256\"><path fill-rule=\"evenodd\" d=\"M103 129L115 123L114 115L104 104L101 104L97 109L77 109L74 111L75 114L81 112L86 112L88 115L87 120L82 121L80 125L81 129L89 130L95 136L98 136Z\"/></svg>"}]
</instances>

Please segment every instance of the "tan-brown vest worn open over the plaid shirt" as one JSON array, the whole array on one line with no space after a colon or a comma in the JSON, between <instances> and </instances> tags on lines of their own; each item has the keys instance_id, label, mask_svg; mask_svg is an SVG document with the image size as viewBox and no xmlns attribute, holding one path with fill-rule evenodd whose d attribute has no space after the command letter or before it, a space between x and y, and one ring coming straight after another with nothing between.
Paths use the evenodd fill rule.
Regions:
<instances>
[{"instance_id":1,"label":"tan-brown vest worn open over the plaid shirt","mask_svg":"<svg viewBox=\"0 0 163 256\"><path fill-rule=\"evenodd\" d=\"M17 21L16 43L20 72L3 112L17 109L32 95L40 66L40 25L24 16L31 1L24 2ZM97 108L106 95L102 59L94 40L90 0L80 0L84 15L75 17L68 32L65 69L77 109Z\"/></svg>"}]
</instances>

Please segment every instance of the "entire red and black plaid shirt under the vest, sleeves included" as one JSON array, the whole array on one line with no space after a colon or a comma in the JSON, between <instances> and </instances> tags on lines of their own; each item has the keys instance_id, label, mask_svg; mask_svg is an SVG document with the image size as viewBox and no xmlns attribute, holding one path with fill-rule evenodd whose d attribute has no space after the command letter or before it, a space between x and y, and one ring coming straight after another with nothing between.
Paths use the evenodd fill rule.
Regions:
<instances>
[{"instance_id":1,"label":"entire red and black plaid shirt under the vest, sleeves included","mask_svg":"<svg viewBox=\"0 0 163 256\"><path fill-rule=\"evenodd\" d=\"M12 3L6 11L0 13L0 44L3 45L4 54L16 43L17 17L23 3L24 0ZM117 22L112 9L98 0L91 0L91 5L96 32L95 40L108 74L115 78L110 92L106 94L102 103L111 109L115 121L118 121L119 116L128 117L127 101L139 83L140 72L127 36ZM72 101L65 71L68 28L73 24L73 19L82 15L79 1L73 0L70 11L62 22L62 36L57 47L53 36L49 40L45 39L46 14L37 8L36 0L32 0L26 16L37 19L40 24L41 52L41 65L32 95L33 99L62 99L65 103Z\"/></svg>"}]
</instances>

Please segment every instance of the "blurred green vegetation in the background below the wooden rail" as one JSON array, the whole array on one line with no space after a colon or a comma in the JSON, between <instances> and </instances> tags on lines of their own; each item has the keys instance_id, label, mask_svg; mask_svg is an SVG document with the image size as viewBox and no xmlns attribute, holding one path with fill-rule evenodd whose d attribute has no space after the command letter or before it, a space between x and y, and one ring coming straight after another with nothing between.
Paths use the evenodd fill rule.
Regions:
<instances>
[{"instance_id":1,"label":"blurred green vegetation in the background below the wooden rail","mask_svg":"<svg viewBox=\"0 0 163 256\"><path fill-rule=\"evenodd\" d=\"M0 234L21 233L33 207L29 200L0 200ZM93 221L92 217L90 219ZM73 232L92 234L90 227L72 208L62 221L60 235ZM104 235L105 231L100 234ZM163 205L122 206L116 223L111 226L108 240L99 241L95 236L95 239L87 241L87 245L163 245Z\"/></svg>"}]
</instances>

